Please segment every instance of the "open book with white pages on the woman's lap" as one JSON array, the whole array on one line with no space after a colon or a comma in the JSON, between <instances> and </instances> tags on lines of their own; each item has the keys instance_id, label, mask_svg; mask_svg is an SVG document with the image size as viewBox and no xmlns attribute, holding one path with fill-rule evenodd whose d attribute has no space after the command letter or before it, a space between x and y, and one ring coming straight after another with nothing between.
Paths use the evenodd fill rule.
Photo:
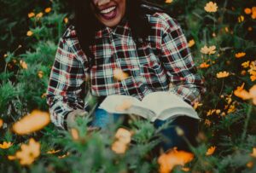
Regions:
<instances>
[{"instance_id":1,"label":"open book with white pages on the woman's lap","mask_svg":"<svg viewBox=\"0 0 256 173\"><path fill-rule=\"evenodd\" d=\"M200 119L194 108L180 96L165 91L150 93L143 101L130 95L108 95L99 108L110 113L136 114L151 122L155 119L166 120L178 116Z\"/></svg>"}]
</instances>

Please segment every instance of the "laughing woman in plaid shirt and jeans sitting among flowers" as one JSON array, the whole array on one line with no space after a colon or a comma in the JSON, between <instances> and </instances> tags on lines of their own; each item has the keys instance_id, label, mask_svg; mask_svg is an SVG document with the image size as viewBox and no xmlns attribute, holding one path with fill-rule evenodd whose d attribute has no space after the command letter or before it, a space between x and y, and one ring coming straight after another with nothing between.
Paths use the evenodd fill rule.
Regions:
<instances>
[{"instance_id":1,"label":"laughing woman in plaid shirt and jeans sitting among flowers","mask_svg":"<svg viewBox=\"0 0 256 173\"><path fill-rule=\"evenodd\" d=\"M69 129L87 114L82 97L85 81L99 101L106 95L133 95L142 99L164 90L181 95L193 105L204 91L182 29L168 14L140 0L77 0L76 22L61 37L49 78L47 101L52 122ZM113 78L115 69L129 75ZM172 85L172 88L170 87ZM87 111L86 111L87 110ZM105 128L111 116L96 108L93 127ZM157 121L160 126L164 122ZM197 121L177 118L190 141ZM163 131L166 145L184 149L173 128Z\"/></svg>"}]
</instances>

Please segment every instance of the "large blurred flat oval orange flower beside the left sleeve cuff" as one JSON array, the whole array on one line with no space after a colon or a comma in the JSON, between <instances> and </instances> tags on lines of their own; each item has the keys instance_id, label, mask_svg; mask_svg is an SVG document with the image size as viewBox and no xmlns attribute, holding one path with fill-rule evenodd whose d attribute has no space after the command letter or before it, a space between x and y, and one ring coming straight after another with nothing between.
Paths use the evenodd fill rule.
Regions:
<instances>
[{"instance_id":1,"label":"large blurred flat oval orange flower beside the left sleeve cuff","mask_svg":"<svg viewBox=\"0 0 256 173\"><path fill-rule=\"evenodd\" d=\"M13 125L13 130L16 134L26 135L37 130L41 130L49 124L49 112L41 112L38 110L32 111L30 114L21 118Z\"/></svg>"}]
</instances>

